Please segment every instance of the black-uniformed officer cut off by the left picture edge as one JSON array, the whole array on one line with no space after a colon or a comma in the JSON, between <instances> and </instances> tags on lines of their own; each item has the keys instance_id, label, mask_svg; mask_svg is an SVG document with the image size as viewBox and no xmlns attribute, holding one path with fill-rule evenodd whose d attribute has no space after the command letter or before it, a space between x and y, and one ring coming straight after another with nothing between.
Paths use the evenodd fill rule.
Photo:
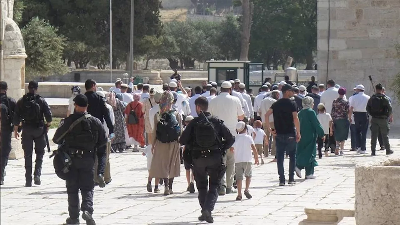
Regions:
<instances>
[{"instance_id":1,"label":"black-uniformed officer cut off by the left picture edge","mask_svg":"<svg viewBox=\"0 0 400 225\"><path fill-rule=\"evenodd\" d=\"M14 115L16 101L7 96L7 82L0 82L0 102L1 102L1 173L0 185L4 184L8 155L11 151L12 116Z\"/></svg>"}]
</instances>

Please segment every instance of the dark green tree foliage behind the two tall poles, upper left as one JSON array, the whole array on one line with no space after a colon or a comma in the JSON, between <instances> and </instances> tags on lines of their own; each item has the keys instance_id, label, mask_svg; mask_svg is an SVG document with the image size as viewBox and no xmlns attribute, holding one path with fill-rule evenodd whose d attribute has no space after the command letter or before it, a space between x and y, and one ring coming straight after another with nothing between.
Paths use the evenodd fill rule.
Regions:
<instances>
[{"instance_id":1,"label":"dark green tree foliage behind the two tall poles, upper left","mask_svg":"<svg viewBox=\"0 0 400 225\"><path fill-rule=\"evenodd\" d=\"M98 0L22 0L25 10L20 26L38 16L58 27L66 37L63 57L68 65L77 68L88 62L104 68L108 64L109 1ZM112 1L113 68L125 63L129 53L130 0ZM134 52L144 54L140 40L144 36L158 36L161 32L159 0L134 1ZM105 47L107 46L107 47Z\"/></svg>"}]
</instances>

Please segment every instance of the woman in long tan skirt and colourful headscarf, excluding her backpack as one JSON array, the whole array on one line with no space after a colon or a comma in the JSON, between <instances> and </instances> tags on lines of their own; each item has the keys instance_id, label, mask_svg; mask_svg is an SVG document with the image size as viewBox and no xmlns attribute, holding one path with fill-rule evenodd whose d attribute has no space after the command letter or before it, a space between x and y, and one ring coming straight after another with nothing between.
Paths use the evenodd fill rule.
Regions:
<instances>
[{"instance_id":1,"label":"woman in long tan skirt and colourful headscarf, excluding her backpack","mask_svg":"<svg viewBox=\"0 0 400 225\"><path fill-rule=\"evenodd\" d=\"M179 140L162 143L157 140L156 131L157 124L161 119L162 114L169 112L172 109L172 102L174 101L174 96L170 91L162 93L160 100L160 110L154 116L154 129L152 135L152 152L153 159L150 167L149 177L160 177L164 178L164 195L173 194L172 183L174 182L174 177L180 176L180 151L179 151ZM175 115L178 125L182 131L182 117L179 112L172 112Z\"/></svg>"}]
</instances>

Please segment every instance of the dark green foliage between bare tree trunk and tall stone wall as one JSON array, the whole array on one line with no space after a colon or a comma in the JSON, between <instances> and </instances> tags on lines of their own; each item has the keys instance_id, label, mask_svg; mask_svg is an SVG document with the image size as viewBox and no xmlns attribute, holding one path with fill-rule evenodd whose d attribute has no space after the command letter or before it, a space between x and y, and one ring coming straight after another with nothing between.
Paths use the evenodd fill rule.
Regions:
<instances>
[{"instance_id":1,"label":"dark green foliage between bare tree trunk and tall stone wall","mask_svg":"<svg viewBox=\"0 0 400 225\"><path fill-rule=\"evenodd\" d=\"M254 1L250 59L277 70L289 55L312 69L312 52L317 48L316 7L316 0Z\"/></svg>"}]
</instances>

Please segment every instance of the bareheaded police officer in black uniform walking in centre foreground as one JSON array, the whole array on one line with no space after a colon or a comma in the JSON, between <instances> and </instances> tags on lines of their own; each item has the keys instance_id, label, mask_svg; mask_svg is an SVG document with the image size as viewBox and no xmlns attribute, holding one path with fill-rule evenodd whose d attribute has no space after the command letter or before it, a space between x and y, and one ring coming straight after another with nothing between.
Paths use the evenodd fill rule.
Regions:
<instances>
[{"instance_id":1,"label":"bareheaded police officer in black uniform walking in centre foreground","mask_svg":"<svg viewBox=\"0 0 400 225\"><path fill-rule=\"evenodd\" d=\"M208 100L207 98L200 96L195 101L196 112L198 117L194 118L192 122L186 127L180 138L181 145L187 145L191 152L191 158L193 163L193 173L194 179L196 180L197 190L199 192L198 199L200 206L202 207L202 215L199 216L200 221L207 221L208 223L213 223L211 211L214 209L214 205L218 199L218 192L220 189L220 181L222 176L226 171L226 165L222 162L222 156L226 153L235 142L235 138L230 133L229 129L224 125L224 122L219 120L217 117L210 115L208 110ZM201 141L200 135L205 135L206 132L201 134L196 134L199 131L196 126L198 123L206 121L206 118L210 121L214 127L214 131L208 133L213 133L216 135L216 140L211 147L205 149L199 144ZM204 136L204 137L205 137ZM225 141L221 141L221 138ZM186 151L185 151L186 152ZM190 157L189 157L190 158ZM185 160L188 156L185 156ZM189 159L190 161L190 159ZM210 176L210 188L207 191L208 181L207 176Z\"/></svg>"}]
</instances>

